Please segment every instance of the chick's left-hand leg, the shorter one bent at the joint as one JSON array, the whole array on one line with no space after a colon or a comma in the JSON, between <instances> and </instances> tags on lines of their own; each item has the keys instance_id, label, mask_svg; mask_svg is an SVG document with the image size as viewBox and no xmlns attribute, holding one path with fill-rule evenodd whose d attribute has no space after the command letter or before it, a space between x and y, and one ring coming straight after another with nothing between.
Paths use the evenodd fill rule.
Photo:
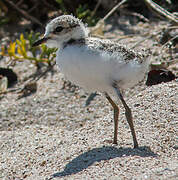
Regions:
<instances>
[{"instance_id":1,"label":"chick's left-hand leg, the shorter one bent at the joint","mask_svg":"<svg viewBox=\"0 0 178 180\"><path fill-rule=\"evenodd\" d=\"M107 93L105 93L105 96L114 109L114 140L113 140L113 143L117 144L119 108Z\"/></svg>"}]
</instances>

